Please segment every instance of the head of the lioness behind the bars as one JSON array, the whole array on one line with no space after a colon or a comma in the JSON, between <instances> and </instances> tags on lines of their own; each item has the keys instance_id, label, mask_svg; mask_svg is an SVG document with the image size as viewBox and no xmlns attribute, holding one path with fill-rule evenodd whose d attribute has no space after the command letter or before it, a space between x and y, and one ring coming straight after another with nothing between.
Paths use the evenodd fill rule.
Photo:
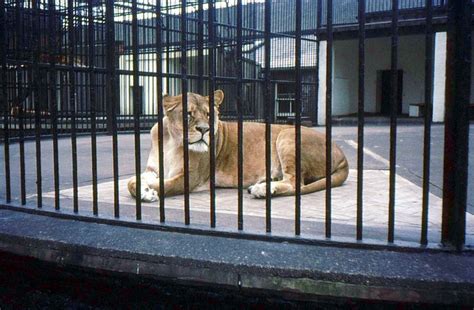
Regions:
<instances>
[{"instance_id":1,"label":"head of the lioness behind the bars","mask_svg":"<svg viewBox=\"0 0 474 310\"><path fill-rule=\"evenodd\" d=\"M214 134L217 134L219 106L224 100L224 92L214 92ZM209 96L188 93L188 141L189 150L207 152L209 150ZM182 95L163 97L163 108L167 118L168 130L176 143L183 143L183 104Z\"/></svg>"}]
</instances>

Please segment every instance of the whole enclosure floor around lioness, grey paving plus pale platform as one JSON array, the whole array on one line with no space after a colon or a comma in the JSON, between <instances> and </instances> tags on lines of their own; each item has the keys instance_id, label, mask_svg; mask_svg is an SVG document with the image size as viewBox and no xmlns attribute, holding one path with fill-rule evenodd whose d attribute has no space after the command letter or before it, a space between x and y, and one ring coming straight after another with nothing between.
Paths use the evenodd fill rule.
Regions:
<instances>
[{"instance_id":1,"label":"whole enclosure floor around lioness, grey paving plus pale platform","mask_svg":"<svg viewBox=\"0 0 474 310\"><path fill-rule=\"evenodd\" d=\"M323 130L317 128L316 130ZM471 139L474 137L471 128ZM387 239L388 225L388 141L389 130L385 126L366 128L366 147L364 158L364 241L384 243ZM419 242L421 229L421 173L422 171L422 127L400 126L397 141L397 177L395 208L395 239L397 242ZM432 135L432 158L430 178L429 240L436 244L440 240L441 188L442 188L442 150L443 128L435 126ZM355 127L335 127L333 139L346 153L351 168L357 162L357 131ZM474 139L472 139L474 140ZM113 215L113 183L111 138L99 136L97 152L99 158L99 214ZM141 140L142 164L146 162L149 151L149 135L143 134ZM126 180L134 172L133 135L119 135L120 170L120 212L124 220L134 220L135 203L127 193ZM2 148L3 149L3 148ZM59 169L61 189L61 209L71 210L72 205L72 163L69 138L59 140ZM42 185L44 207L52 208L54 203L54 182L52 165L52 141L42 141ZM470 152L473 157L474 152ZM25 143L26 192L29 205L35 204L36 165L35 143ZM3 151L0 152L3 162ZM18 145L11 146L12 195L15 203L19 198L19 152ZM90 137L78 138L78 181L79 206L81 214L91 214L91 147ZM470 158L471 163L473 159ZM4 180L4 166L0 167L0 178ZM336 240L354 241L356 233L356 170L351 170L347 182L333 189L332 196L332 233ZM473 187L472 169L470 183ZM5 197L5 187L0 186L0 199ZM474 245L474 190L468 190L467 243ZM237 230L237 190L218 189L217 193L217 229ZM265 201L250 198L244 192L244 231L265 233ZM325 233L325 193L318 192L302 196L302 236L324 238ZM166 198L166 223L182 225L184 222L183 196ZM275 235L294 235L294 197L272 199L272 233ZM191 224L195 227L209 227L209 192L191 194ZM159 219L158 203L143 204L143 221L157 223Z\"/></svg>"}]
</instances>

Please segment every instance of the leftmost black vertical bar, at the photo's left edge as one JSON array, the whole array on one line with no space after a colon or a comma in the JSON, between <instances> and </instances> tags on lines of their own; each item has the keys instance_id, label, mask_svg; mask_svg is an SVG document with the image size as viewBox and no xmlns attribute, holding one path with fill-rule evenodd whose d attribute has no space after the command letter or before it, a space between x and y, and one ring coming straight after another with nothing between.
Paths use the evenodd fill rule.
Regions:
<instances>
[{"instance_id":1,"label":"leftmost black vertical bar, at the photo's left edge","mask_svg":"<svg viewBox=\"0 0 474 310\"><path fill-rule=\"evenodd\" d=\"M9 114L8 109L8 92L7 92L7 18L5 14L5 0L0 0L0 61L2 66L1 72L1 86L2 96L0 98L3 112L3 147L5 155L5 192L7 203L11 202L11 175L10 175L10 129L9 129Z\"/></svg>"}]
</instances>

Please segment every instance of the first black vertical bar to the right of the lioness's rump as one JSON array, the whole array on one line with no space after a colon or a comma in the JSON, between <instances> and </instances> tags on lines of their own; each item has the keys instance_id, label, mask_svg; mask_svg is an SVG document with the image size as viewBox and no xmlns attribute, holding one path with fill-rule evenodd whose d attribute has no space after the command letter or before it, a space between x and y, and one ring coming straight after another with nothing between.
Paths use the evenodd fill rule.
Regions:
<instances>
[{"instance_id":1,"label":"first black vertical bar to the right of the lioness's rump","mask_svg":"<svg viewBox=\"0 0 474 310\"><path fill-rule=\"evenodd\" d=\"M357 127L357 228L356 238L362 240L364 182L364 112L365 112L365 1L359 1L359 101Z\"/></svg>"}]
</instances>

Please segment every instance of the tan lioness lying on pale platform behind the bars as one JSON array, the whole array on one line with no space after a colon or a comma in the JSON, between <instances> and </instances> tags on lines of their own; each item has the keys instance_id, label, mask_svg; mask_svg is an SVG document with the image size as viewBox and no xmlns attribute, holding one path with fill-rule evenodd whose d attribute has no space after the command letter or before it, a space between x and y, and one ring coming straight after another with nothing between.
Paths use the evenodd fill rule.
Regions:
<instances>
[{"instance_id":1,"label":"tan lioness lying on pale platform behind the bars","mask_svg":"<svg viewBox=\"0 0 474 310\"><path fill-rule=\"evenodd\" d=\"M189 188L191 191L209 186L209 97L188 93ZM218 187L237 187L237 123L219 120L219 105L224 92L214 92L216 170ZM182 96L165 96L163 107L164 193L166 196L184 193ZM243 183L255 198L266 196L265 184L265 124L243 125ZM271 127L271 195L295 193L295 129L291 125ZM141 174L141 199L158 199L158 124L151 129L152 149L145 172ZM301 193L326 188L326 139L307 127L301 127ZM332 147L331 185L340 186L349 172L346 157L339 147ZM128 182L128 190L136 195L136 179Z\"/></svg>"}]
</instances>

